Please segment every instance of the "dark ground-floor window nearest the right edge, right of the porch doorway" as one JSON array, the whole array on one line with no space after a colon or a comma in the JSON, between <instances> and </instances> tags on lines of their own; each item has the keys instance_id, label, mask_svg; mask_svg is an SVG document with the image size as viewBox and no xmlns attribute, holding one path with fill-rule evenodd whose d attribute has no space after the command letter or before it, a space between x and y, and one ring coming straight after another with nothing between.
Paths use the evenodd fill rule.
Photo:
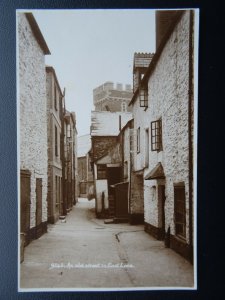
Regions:
<instances>
[{"instance_id":1,"label":"dark ground-floor window nearest the right edge, right of the porch doorway","mask_svg":"<svg viewBox=\"0 0 225 300\"><path fill-rule=\"evenodd\" d=\"M186 237L185 187L174 186L175 232L177 236Z\"/></svg>"}]
</instances>

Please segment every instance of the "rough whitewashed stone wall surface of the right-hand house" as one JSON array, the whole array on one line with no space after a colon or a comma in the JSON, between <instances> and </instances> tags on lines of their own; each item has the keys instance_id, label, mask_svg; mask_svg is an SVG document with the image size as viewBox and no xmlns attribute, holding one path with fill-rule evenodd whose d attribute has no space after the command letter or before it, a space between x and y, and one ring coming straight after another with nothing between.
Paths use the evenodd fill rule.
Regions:
<instances>
[{"instance_id":1,"label":"rough whitewashed stone wall surface of the right-hand house","mask_svg":"<svg viewBox=\"0 0 225 300\"><path fill-rule=\"evenodd\" d=\"M162 119L162 146L160 152L149 150L149 166L144 176L158 162L165 173L165 229L174 228L174 184L183 182L186 196L186 242L189 243L189 144L188 144L188 81L189 81L189 14L185 11L181 20L165 44L159 60L148 81L148 108L134 103L134 128L141 128L141 137L151 122ZM151 133L150 133L151 134ZM150 139L151 141L151 139ZM136 170L144 168L145 142L141 138L140 153L136 156ZM158 184L156 180L144 180L145 222L159 227Z\"/></svg>"}]
</instances>

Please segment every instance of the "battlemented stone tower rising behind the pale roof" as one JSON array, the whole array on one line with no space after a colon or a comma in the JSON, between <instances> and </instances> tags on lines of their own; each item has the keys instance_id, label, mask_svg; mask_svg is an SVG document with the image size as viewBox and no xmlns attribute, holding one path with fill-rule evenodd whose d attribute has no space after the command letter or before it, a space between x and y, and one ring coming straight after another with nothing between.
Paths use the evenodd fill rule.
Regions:
<instances>
[{"instance_id":1,"label":"battlemented stone tower rising behind the pale roof","mask_svg":"<svg viewBox=\"0 0 225 300\"><path fill-rule=\"evenodd\" d=\"M125 87L121 83L115 86L113 82L105 82L93 90L93 101L96 111L126 112L131 111L128 106L132 98L130 84Z\"/></svg>"}]
</instances>

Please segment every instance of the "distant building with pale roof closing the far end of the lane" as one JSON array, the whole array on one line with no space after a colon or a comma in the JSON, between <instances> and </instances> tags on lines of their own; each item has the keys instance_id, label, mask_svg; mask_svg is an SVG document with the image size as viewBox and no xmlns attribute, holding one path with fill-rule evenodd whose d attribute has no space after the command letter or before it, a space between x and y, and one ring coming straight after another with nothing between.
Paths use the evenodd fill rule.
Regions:
<instances>
[{"instance_id":1,"label":"distant building with pale roof closing the far end of the lane","mask_svg":"<svg viewBox=\"0 0 225 300\"><path fill-rule=\"evenodd\" d=\"M78 137L78 185L79 197L88 197L91 190L94 192L93 173L91 171L91 163L89 151L91 149L90 134Z\"/></svg>"}]
</instances>

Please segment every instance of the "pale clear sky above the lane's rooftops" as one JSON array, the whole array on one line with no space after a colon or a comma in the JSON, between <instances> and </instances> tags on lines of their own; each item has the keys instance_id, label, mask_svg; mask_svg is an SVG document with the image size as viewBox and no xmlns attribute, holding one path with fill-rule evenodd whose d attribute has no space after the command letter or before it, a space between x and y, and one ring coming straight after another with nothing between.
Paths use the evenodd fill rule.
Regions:
<instances>
[{"instance_id":1,"label":"pale clear sky above the lane's rooftops","mask_svg":"<svg viewBox=\"0 0 225 300\"><path fill-rule=\"evenodd\" d=\"M76 113L78 136L90 133L93 89L106 81L133 85L135 52L155 52L150 9L32 10L51 55L45 56Z\"/></svg>"}]
</instances>

